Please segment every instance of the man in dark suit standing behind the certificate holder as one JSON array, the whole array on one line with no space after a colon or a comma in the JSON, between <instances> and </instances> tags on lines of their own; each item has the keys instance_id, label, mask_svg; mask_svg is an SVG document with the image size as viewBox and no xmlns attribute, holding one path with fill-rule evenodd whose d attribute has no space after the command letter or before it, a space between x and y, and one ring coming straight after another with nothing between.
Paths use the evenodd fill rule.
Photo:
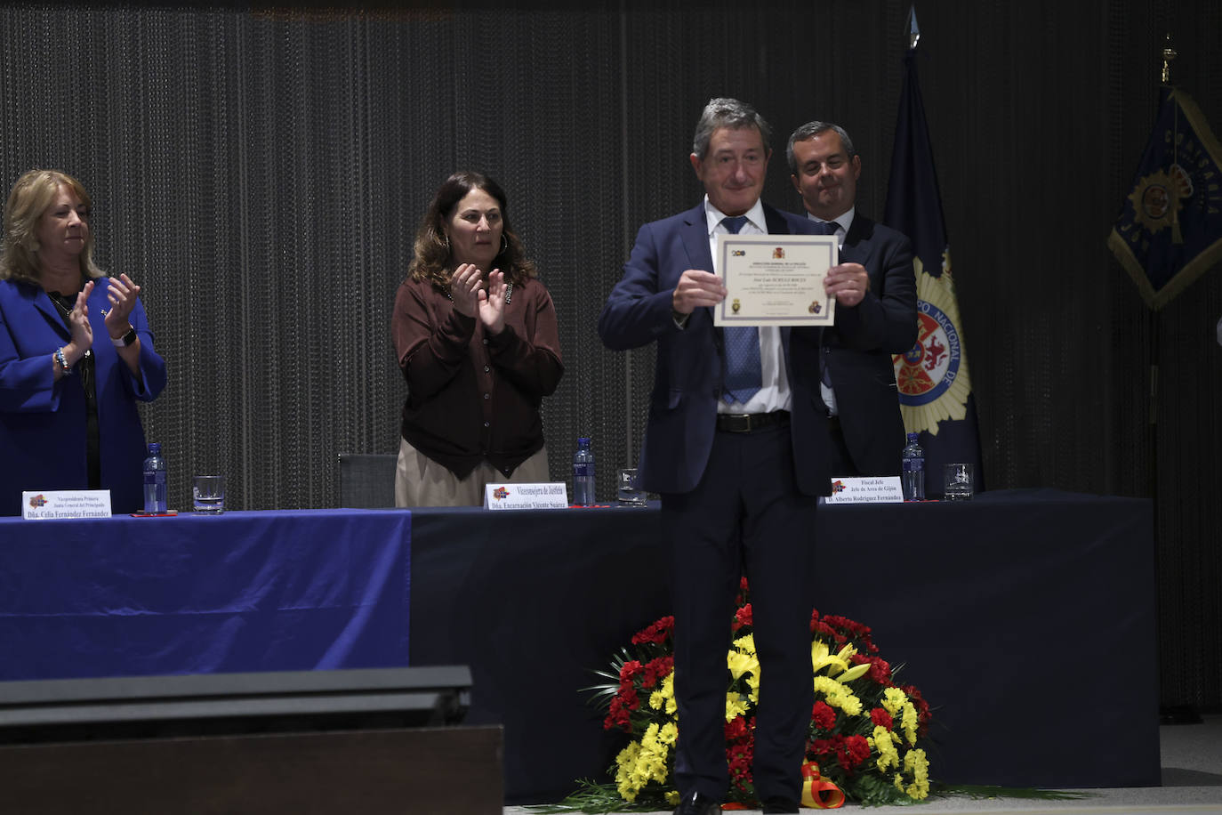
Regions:
<instances>
[{"instance_id":1,"label":"man in dark suit standing behind the certificate holder","mask_svg":"<svg viewBox=\"0 0 1222 815\"><path fill-rule=\"evenodd\" d=\"M840 312L824 330L820 392L844 463L835 475L898 475L904 423L891 354L916 342L912 242L857 211L862 156L844 128L808 122L789 137L786 153L807 217L829 230L836 225L837 269L866 287L853 309L864 330L846 337Z\"/></svg>"}]
</instances>

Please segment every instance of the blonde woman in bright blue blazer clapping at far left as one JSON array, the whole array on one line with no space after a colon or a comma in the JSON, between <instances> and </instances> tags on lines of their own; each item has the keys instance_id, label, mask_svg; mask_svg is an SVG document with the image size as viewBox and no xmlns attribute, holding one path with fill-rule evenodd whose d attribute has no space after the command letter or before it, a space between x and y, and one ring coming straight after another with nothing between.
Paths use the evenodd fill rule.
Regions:
<instances>
[{"instance_id":1,"label":"blonde woman in bright blue blazer clapping at far left","mask_svg":"<svg viewBox=\"0 0 1222 815\"><path fill-rule=\"evenodd\" d=\"M141 287L93 260L89 194L57 170L31 170L4 210L0 254L0 514L22 490L109 489L114 512L142 508L137 401L165 387Z\"/></svg>"}]
</instances>

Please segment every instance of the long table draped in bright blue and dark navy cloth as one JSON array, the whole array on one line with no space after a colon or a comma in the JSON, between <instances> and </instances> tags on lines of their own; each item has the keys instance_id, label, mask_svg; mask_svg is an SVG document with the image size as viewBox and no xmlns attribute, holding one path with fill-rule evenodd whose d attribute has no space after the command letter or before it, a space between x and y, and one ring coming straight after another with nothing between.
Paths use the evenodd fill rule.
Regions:
<instances>
[{"instance_id":1,"label":"long table draped in bright blue and dark navy cloth","mask_svg":"<svg viewBox=\"0 0 1222 815\"><path fill-rule=\"evenodd\" d=\"M820 612L932 705L936 778L1158 784L1147 501L830 506L811 541ZM2 519L0 678L468 665L507 803L540 803L623 745L583 688L670 613L670 568L656 507Z\"/></svg>"}]
</instances>

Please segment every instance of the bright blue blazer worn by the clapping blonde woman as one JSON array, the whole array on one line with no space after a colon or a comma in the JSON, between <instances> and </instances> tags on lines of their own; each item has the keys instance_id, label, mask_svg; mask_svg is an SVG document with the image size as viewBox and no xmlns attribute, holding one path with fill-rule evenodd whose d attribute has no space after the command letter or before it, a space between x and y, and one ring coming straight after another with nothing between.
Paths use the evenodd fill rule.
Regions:
<instances>
[{"instance_id":1,"label":"bright blue blazer worn by the clapping blonde woman","mask_svg":"<svg viewBox=\"0 0 1222 815\"><path fill-rule=\"evenodd\" d=\"M101 489L116 513L143 507L144 429L136 402L165 387L165 360L153 349L144 307L131 323L141 337L141 381L132 376L103 323L109 279L89 296L98 393ZM78 374L55 381L51 354L71 334L42 288L0 281L0 513L21 514L22 490L88 489L84 391Z\"/></svg>"}]
</instances>

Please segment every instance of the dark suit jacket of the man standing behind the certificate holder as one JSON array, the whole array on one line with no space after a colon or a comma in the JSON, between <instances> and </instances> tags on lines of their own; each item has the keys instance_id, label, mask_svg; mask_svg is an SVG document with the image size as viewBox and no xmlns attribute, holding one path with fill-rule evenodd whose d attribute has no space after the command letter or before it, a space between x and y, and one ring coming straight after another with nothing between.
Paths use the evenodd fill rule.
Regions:
<instances>
[{"instance_id":1,"label":"dark suit jacket of the man standing behind the certificate holder","mask_svg":"<svg viewBox=\"0 0 1222 815\"><path fill-rule=\"evenodd\" d=\"M903 233L857 213L841 263L859 263L870 276L865 298L854 308L837 305L836 325L824 331L841 430L858 474L898 475L904 423L891 356L916 342L913 246Z\"/></svg>"}]
</instances>

